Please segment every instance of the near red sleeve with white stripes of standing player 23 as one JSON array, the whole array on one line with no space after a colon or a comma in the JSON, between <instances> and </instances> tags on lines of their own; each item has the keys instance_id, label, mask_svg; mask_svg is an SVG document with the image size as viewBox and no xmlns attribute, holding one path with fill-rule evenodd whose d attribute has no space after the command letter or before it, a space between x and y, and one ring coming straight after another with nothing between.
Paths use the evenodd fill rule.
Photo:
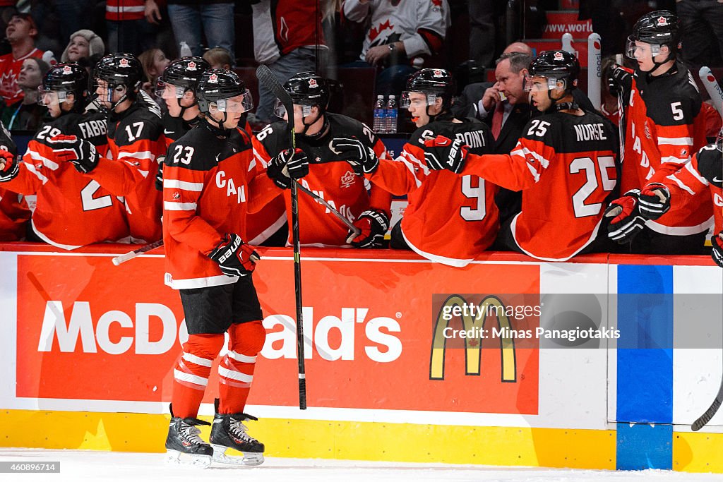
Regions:
<instances>
[{"instance_id":1,"label":"near red sleeve with white stripes of standing player 23","mask_svg":"<svg viewBox=\"0 0 723 482\"><path fill-rule=\"evenodd\" d=\"M166 233L202 253L208 253L221 242L221 234L197 211L208 172L178 165L163 166L163 225Z\"/></svg>"}]
</instances>

